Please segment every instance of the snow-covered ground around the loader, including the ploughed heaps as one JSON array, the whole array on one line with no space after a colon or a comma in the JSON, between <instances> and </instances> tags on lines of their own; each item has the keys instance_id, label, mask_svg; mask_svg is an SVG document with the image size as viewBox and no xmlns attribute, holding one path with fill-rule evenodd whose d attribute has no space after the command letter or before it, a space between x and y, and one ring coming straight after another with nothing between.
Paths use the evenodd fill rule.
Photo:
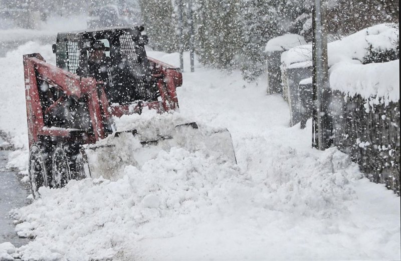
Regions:
<instances>
[{"instance_id":1,"label":"snow-covered ground around the loader, including the ploughed heaps","mask_svg":"<svg viewBox=\"0 0 401 261\"><path fill-rule=\"evenodd\" d=\"M20 149L11 166L27 166L22 54L51 46L27 43L0 58L0 129ZM177 65L178 55L149 51ZM188 55L185 61L189 61ZM264 80L195 64L177 89L177 115L227 127L238 165L182 148L160 151L116 181L73 180L42 188L42 198L16 209L17 250L41 260L383 260L401 259L400 198L362 178L348 156L311 148L306 129L289 127L280 95ZM152 117L145 112L144 117ZM6 250L0 245L0 256ZM4 249L13 252L9 244ZM3 254L3 255L2 255Z\"/></svg>"}]
</instances>

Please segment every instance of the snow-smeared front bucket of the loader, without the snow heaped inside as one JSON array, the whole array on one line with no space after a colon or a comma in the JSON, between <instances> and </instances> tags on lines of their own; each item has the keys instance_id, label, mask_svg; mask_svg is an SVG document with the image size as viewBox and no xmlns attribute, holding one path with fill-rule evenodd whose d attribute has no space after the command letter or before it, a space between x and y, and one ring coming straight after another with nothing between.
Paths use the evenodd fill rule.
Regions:
<instances>
[{"instance_id":1,"label":"snow-smeared front bucket of the loader, without the snow heaped inside","mask_svg":"<svg viewBox=\"0 0 401 261\"><path fill-rule=\"evenodd\" d=\"M141 139L140 132L129 130L115 132L104 140L86 145L90 173L93 178L120 178L126 165L141 168L157 157L160 150L181 147L190 152L202 151L218 162L236 164L231 134L227 129L203 130L195 122L176 125L171 131L158 133L157 139Z\"/></svg>"}]
</instances>

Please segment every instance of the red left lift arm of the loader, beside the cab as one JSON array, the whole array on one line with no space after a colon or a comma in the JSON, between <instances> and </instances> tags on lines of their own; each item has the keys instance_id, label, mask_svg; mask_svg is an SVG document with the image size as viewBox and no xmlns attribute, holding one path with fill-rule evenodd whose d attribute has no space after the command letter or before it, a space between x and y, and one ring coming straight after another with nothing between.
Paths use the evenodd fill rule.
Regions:
<instances>
[{"instance_id":1,"label":"red left lift arm of the loader, beside the cab","mask_svg":"<svg viewBox=\"0 0 401 261\"><path fill-rule=\"evenodd\" d=\"M44 121L44 116L60 106L66 97L86 100L94 134L93 137L89 136L90 140L94 142L105 137L104 120L110 119L110 113L107 110L109 105L101 84L97 84L93 78L80 77L46 63L39 53L26 54L23 58L30 146L39 140L39 135L71 136L73 131L71 128L49 126ZM41 92L49 89L41 88L40 81L53 85L62 93L59 99L46 107L43 105L49 100L45 101L44 97L41 99L41 94L43 96Z\"/></svg>"}]
</instances>

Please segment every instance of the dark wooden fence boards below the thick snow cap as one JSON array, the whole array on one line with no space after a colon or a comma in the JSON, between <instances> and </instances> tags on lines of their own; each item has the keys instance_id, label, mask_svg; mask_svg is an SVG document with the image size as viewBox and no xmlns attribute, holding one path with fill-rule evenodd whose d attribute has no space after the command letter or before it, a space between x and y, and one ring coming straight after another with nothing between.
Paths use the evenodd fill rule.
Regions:
<instances>
[{"instance_id":1,"label":"dark wooden fence boards below the thick snow cap","mask_svg":"<svg viewBox=\"0 0 401 261\"><path fill-rule=\"evenodd\" d=\"M399 101L332 95L333 144L347 153L371 181L400 194Z\"/></svg>"}]
</instances>

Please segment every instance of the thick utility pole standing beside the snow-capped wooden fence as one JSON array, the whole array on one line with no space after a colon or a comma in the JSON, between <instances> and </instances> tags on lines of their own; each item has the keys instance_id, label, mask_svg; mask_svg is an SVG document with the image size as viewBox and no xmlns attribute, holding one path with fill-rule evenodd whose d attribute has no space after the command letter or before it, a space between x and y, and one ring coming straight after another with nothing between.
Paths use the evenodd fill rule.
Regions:
<instances>
[{"instance_id":1,"label":"thick utility pole standing beside the snow-capped wooden fence","mask_svg":"<svg viewBox=\"0 0 401 261\"><path fill-rule=\"evenodd\" d=\"M327 66L327 2L315 0L313 22L313 123L312 146L324 150L331 145L332 122L329 115L330 86Z\"/></svg>"}]
</instances>

